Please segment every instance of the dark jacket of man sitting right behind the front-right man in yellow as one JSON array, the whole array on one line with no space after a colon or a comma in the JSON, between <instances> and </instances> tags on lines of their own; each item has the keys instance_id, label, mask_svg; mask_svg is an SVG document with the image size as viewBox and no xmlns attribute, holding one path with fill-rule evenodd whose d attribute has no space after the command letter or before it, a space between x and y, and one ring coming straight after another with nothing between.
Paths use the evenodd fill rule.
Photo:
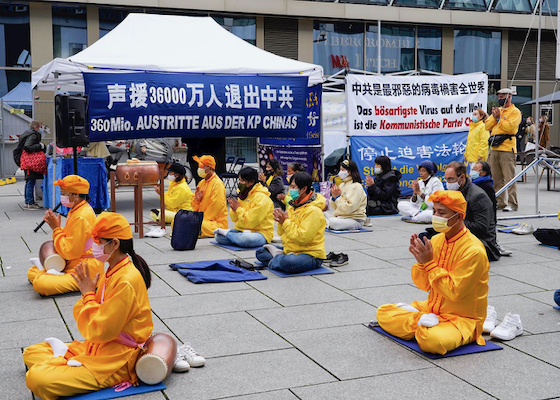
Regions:
<instances>
[{"instance_id":1,"label":"dark jacket of man sitting right behind the front-right man in yellow","mask_svg":"<svg viewBox=\"0 0 560 400\"><path fill-rule=\"evenodd\" d=\"M492 202L484 190L467 178L461 193L467 200L467 216L465 226L472 232L486 248L488 259L496 261L500 258L500 251L496 244L495 211Z\"/></svg>"}]
</instances>

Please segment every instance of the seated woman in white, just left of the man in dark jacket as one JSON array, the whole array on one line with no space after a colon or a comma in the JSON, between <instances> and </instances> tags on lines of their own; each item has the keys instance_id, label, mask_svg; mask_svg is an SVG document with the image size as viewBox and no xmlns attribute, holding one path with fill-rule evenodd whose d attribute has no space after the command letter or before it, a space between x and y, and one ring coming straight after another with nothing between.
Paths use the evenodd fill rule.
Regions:
<instances>
[{"instance_id":1,"label":"seated woman in white, just left of the man in dark jacket","mask_svg":"<svg viewBox=\"0 0 560 400\"><path fill-rule=\"evenodd\" d=\"M428 224L432 221L433 203L428 201L430 195L443 189L443 183L435 176L437 165L425 160L418 166L420 180L412 182L413 195L410 201L401 201L398 204L399 213L405 222Z\"/></svg>"}]
</instances>

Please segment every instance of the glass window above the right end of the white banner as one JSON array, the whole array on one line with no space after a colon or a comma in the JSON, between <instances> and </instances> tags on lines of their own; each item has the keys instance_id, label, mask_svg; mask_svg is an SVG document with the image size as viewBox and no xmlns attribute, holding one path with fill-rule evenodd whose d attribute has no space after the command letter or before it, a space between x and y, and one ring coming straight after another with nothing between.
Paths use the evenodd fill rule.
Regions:
<instances>
[{"instance_id":1,"label":"glass window above the right end of the white banner","mask_svg":"<svg viewBox=\"0 0 560 400\"><path fill-rule=\"evenodd\" d=\"M501 32L455 30L453 73L484 71L489 79L500 79Z\"/></svg>"}]
</instances>

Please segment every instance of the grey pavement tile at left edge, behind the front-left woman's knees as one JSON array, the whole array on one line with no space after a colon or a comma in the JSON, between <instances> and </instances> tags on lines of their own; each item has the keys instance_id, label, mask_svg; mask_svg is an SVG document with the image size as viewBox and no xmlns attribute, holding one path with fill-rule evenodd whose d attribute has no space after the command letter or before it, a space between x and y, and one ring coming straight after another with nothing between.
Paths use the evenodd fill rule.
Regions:
<instances>
[{"instance_id":1,"label":"grey pavement tile at left edge, behind the front-left woman's knees","mask_svg":"<svg viewBox=\"0 0 560 400\"><path fill-rule=\"evenodd\" d=\"M56 337L64 342L70 341L70 335L60 316L35 321L6 322L2 323L0 349L19 349L44 342L48 337Z\"/></svg>"}]
</instances>

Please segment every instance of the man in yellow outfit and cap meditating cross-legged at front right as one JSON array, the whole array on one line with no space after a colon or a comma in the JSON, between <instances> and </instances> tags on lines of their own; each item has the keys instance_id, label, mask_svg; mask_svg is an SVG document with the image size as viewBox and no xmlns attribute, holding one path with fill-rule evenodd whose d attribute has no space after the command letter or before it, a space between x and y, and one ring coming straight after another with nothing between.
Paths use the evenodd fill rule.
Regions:
<instances>
[{"instance_id":1,"label":"man in yellow outfit and cap meditating cross-legged at front right","mask_svg":"<svg viewBox=\"0 0 560 400\"><path fill-rule=\"evenodd\" d=\"M464 344L484 345L488 270L486 249L463 222L467 202L459 191L437 191L432 225L441 232L431 241L410 238L409 251L417 263L412 280L428 292L427 301L384 304L377 322L386 332L416 339L427 353L445 354Z\"/></svg>"}]
</instances>

